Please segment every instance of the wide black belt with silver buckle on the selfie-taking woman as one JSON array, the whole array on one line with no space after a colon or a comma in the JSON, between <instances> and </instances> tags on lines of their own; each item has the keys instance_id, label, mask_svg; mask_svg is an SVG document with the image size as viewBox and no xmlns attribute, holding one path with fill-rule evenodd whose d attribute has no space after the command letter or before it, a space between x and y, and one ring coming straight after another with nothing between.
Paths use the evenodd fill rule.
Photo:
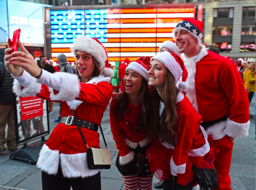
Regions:
<instances>
[{"instance_id":1,"label":"wide black belt with silver buckle on the selfie-taking woman","mask_svg":"<svg viewBox=\"0 0 256 190\"><path fill-rule=\"evenodd\" d=\"M77 119L77 120L78 120L78 124L79 124L80 127L86 128L86 129L89 129L89 130L93 130L95 132L98 131L99 126L96 125L95 123L85 121L85 120L82 120L82 119ZM73 121L73 116L62 117L61 120L59 121L59 123L66 124L68 126L70 126L70 125L77 126L77 124Z\"/></svg>"}]
</instances>

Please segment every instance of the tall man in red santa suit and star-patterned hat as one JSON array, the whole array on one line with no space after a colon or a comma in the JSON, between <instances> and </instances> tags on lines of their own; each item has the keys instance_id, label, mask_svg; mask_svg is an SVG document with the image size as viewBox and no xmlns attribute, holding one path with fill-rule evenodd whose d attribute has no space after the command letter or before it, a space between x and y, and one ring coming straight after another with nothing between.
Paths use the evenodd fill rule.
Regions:
<instances>
[{"instance_id":1,"label":"tall man in red santa suit and star-patterned hat","mask_svg":"<svg viewBox=\"0 0 256 190\"><path fill-rule=\"evenodd\" d=\"M202 44L203 22L185 18L173 37L189 73L185 90L193 107L202 116L201 125L220 152L215 168L221 190L231 190L229 170L234 138L248 135L249 101L241 76L228 58L207 51Z\"/></svg>"}]
</instances>

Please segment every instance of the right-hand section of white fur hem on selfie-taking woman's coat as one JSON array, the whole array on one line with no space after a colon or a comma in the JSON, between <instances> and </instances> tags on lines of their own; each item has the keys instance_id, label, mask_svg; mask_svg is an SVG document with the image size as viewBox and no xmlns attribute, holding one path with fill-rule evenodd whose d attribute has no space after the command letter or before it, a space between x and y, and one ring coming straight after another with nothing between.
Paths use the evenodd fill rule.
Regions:
<instances>
[{"instance_id":1,"label":"right-hand section of white fur hem on selfie-taking woman's coat","mask_svg":"<svg viewBox=\"0 0 256 190\"><path fill-rule=\"evenodd\" d=\"M61 169L64 177L87 178L96 175L100 169L89 170L87 167L86 153L61 154Z\"/></svg>"}]
</instances>

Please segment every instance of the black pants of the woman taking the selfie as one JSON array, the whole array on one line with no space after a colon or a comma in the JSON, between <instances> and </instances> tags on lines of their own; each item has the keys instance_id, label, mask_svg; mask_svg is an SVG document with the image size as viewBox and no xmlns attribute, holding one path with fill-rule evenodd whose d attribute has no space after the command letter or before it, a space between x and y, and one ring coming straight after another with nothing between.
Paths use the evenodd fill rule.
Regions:
<instances>
[{"instance_id":1,"label":"black pants of the woman taking the selfie","mask_svg":"<svg viewBox=\"0 0 256 190\"><path fill-rule=\"evenodd\" d=\"M101 190L101 172L87 178L65 178L61 166L56 175L42 171L43 190Z\"/></svg>"}]
</instances>

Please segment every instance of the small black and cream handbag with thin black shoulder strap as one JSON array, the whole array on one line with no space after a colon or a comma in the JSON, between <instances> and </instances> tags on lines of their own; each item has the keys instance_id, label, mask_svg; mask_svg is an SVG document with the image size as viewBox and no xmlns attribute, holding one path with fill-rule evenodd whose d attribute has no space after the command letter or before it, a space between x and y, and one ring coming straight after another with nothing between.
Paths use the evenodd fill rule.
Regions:
<instances>
[{"instance_id":1,"label":"small black and cream handbag with thin black shoulder strap","mask_svg":"<svg viewBox=\"0 0 256 190\"><path fill-rule=\"evenodd\" d=\"M77 124L79 133L83 139L83 142L87 146L87 154L86 154L86 160L87 160L87 166L89 170L95 170L95 169L110 169L112 165L112 159L110 151L107 150L107 143L105 141L105 137L101 128L101 125L99 125L99 128L101 129L101 134L106 146L106 149L101 148L90 148L85 140L85 137L83 136L83 133L81 131L81 128L78 124L77 118L75 117L75 111L72 109L73 116L75 123Z\"/></svg>"}]
</instances>

